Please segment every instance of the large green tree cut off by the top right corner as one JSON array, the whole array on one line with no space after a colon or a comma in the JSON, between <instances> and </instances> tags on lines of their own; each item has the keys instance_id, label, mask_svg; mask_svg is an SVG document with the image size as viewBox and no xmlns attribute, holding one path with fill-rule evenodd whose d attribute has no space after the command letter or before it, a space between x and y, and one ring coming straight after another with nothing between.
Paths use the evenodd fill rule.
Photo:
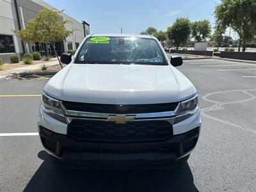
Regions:
<instances>
[{"instance_id":1,"label":"large green tree cut off by the top right corner","mask_svg":"<svg viewBox=\"0 0 256 192\"><path fill-rule=\"evenodd\" d=\"M223 29L234 29L239 35L239 48L243 42L252 40L256 34L256 1L255 0L221 0L214 11L216 23Z\"/></svg>"}]
</instances>

